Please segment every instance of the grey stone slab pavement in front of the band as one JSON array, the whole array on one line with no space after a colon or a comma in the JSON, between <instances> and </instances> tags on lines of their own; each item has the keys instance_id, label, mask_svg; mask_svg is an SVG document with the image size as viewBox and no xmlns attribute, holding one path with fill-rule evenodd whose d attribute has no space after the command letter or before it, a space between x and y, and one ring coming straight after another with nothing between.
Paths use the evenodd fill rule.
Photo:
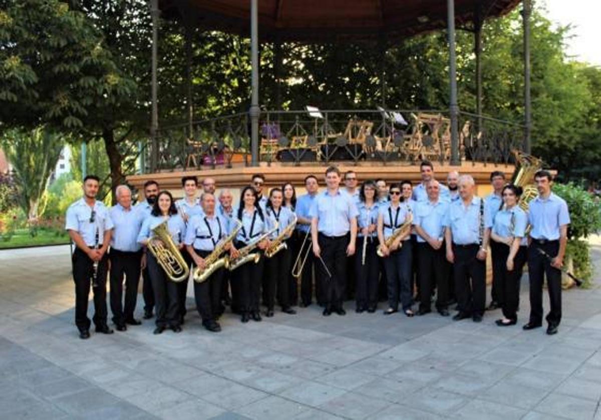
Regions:
<instances>
[{"instance_id":1,"label":"grey stone slab pavement in front of the band","mask_svg":"<svg viewBox=\"0 0 601 420\"><path fill-rule=\"evenodd\" d=\"M522 331L525 280L510 328L494 325L500 311L475 324L349 302L344 317L228 313L219 334L190 310L181 334L144 322L83 341L69 248L0 251L0 418L601 420L600 277L564 292L552 337Z\"/></svg>"}]
</instances>

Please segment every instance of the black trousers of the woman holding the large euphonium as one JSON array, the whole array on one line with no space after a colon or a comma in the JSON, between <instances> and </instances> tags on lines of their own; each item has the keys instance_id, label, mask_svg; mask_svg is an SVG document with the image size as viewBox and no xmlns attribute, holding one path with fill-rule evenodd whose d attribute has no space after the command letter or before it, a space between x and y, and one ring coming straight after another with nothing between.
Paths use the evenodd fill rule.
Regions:
<instances>
[{"instance_id":1,"label":"black trousers of the woman holding the large euphonium","mask_svg":"<svg viewBox=\"0 0 601 420\"><path fill-rule=\"evenodd\" d=\"M178 300L178 284L169 280L150 251L146 253L148 274L154 290L154 306L156 308L157 326L179 326L180 308Z\"/></svg>"}]
</instances>

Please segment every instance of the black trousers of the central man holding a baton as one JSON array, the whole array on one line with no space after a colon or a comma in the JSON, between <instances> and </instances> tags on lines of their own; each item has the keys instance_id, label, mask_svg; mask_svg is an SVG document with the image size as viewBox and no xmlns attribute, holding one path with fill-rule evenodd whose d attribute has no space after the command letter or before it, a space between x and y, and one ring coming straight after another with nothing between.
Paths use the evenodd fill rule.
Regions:
<instances>
[{"instance_id":1,"label":"black trousers of the central man holding a baton","mask_svg":"<svg viewBox=\"0 0 601 420\"><path fill-rule=\"evenodd\" d=\"M325 236L320 233L318 241L323 262L332 274L332 277L329 277L323 264L317 263L316 280L322 284L323 304L332 310L341 309L346 292L348 263L346 248L349 246L350 235Z\"/></svg>"}]
</instances>

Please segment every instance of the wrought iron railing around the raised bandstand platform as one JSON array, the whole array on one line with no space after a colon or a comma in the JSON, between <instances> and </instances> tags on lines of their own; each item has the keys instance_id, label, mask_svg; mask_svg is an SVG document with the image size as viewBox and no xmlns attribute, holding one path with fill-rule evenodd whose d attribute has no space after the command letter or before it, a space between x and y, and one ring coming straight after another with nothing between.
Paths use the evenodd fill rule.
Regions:
<instances>
[{"instance_id":1,"label":"wrought iron railing around the raised bandstand platform","mask_svg":"<svg viewBox=\"0 0 601 420\"><path fill-rule=\"evenodd\" d=\"M520 148L523 125L471 113L459 116L462 161L507 164ZM157 133L156 170L196 170L251 164L247 113L171 125ZM301 165L412 164L451 158L450 118L438 110L264 111L259 123L259 160ZM153 143L144 147L150 163Z\"/></svg>"}]
</instances>

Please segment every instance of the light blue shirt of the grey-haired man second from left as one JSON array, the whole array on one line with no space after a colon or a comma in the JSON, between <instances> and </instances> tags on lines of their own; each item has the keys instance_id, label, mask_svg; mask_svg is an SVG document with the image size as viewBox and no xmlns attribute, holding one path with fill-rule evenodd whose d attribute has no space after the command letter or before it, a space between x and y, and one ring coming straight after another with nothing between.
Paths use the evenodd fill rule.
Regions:
<instances>
[{"instance_id":1,"label":"light blue shirt of the grey-haired man second from left","mask_svg":"<svg viewBox=\"0 0 601 420\"><path fill-rule=\"evenodd\" d=\"M109 215L114 226L111 248L123 252L139 251L141 245L138 244L138 233L144 221L142 212L136 211L133 206L126 210L117 204L111 207Z\"/></svg>"}]
</instances>

